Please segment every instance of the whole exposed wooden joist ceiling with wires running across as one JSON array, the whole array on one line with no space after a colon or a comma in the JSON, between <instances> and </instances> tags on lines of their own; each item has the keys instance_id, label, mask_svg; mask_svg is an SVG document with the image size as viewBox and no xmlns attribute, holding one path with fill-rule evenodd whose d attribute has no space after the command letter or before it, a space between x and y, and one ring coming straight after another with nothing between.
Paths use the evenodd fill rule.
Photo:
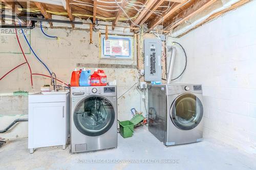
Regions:
<instances>
[{"instance_id":1,"label":"whole exposed wooden joist ceiling with wires running across","mask_svg":"<svg viewBox=\"0 0 256 170\"><path fill-rule=\"evenodd\" d=\"M252 0L238 2L243 1ZM163 25L165 32L176 28L174 32L177 32L178 28L184 26L189 19L193 21L193 17L200 17L198 13L207 13L212 8L217 8L218 3L221 5L231 2L231 0L1 0L2 8L6 7L8 11L12 9L13 13L19 16L33 13L51 19L53 15L61 15L69 17L71 21L78 17L91 19L93 25L97 20L112 21L113 30L118 20L129 23L130 30L140 30L141 26L147 23L148 30ZM50 25L52 26L52 23ZM72 27L74 28L74 24Z\"/></svg>"}]
</instances>

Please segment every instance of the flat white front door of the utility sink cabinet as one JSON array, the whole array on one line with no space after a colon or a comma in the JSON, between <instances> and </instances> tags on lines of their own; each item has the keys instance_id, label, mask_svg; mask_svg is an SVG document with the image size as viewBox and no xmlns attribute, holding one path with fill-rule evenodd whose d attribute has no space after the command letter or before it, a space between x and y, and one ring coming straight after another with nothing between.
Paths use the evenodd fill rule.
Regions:
<instances>
[{"instance_id":1,"label":"flat white front door of the utility sink cabinet","mask_svg":"<svg viewBox=\"0 0 256 170\"><path fill-rule=\"evenodd\" d=\"M65 107L65 102L30 104L29 109L32 110L29 111L29 138L33 140L32 148L66 143Z\"/></svg>"}]
</instances>

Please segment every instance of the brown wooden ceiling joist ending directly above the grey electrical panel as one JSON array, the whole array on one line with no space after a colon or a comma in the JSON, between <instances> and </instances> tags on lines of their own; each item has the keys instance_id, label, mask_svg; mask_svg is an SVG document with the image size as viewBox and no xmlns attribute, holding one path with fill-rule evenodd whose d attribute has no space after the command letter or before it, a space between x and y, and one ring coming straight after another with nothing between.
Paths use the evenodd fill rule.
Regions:
<instances>
[{"instance_id":1,"label":"brown wooden ceiling joist ending directly above the grey electrical panel","mask_svg":"<svg viewBox=\"0 0 256 170\"><path fill-rule=\"evenodd\" d=\"M170 15L172 15L175 11L177 11L180 7L182 7L184 4L187 3L186 0L183 3L180 4L174 4L174 6L172 7L172 9L170 9L169 11L165 12L163 14L163 17L157 16L154 20L152 20L149 25L148 28L152 29L154 27L156 27L157 25L159 25L161 22L163 22L163 20L165 20L166 18L168 18Z\"/></svg>"}]
</instances>

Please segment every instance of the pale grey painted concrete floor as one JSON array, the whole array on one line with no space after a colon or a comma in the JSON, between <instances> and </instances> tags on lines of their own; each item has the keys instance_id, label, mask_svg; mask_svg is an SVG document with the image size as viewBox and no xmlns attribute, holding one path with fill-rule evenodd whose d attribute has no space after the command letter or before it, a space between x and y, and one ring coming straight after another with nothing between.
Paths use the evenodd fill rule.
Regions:
<instances>
[{"instance_id":1,"label":"pale grey painted concrete floor","mask_svg":"<svg viewBox=\"0 0 256 170\"><path fill-rule=\"evenodd\" d=\"M28 139L12 140L0 148L0 169L256 169L256 156L244 153L214 139L165 147L147 127L140 127L131 138L118 134L118 148L71 154L70 146L37 149L29 154ZM127 160L123 163L86 161ZM172 160L168 163L129 161Z\"/></svg>"}]
</instances>

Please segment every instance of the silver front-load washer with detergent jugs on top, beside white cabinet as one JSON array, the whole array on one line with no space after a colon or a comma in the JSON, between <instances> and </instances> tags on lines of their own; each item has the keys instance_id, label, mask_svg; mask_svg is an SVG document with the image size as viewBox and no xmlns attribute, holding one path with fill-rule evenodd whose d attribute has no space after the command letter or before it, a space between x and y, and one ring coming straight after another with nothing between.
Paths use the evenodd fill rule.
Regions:
<instances>
[{"instance_id":1,"label":"silver front-load washer with detergent jugs on top, beside white cabinet","mask_svg":"<svg viewBox=\"0 0 256 170\"><path fill-rule=\"evenodd\" d=\"M71 152L117 147L116 86L71 87Z\"/></svg>"}]
</instances>

